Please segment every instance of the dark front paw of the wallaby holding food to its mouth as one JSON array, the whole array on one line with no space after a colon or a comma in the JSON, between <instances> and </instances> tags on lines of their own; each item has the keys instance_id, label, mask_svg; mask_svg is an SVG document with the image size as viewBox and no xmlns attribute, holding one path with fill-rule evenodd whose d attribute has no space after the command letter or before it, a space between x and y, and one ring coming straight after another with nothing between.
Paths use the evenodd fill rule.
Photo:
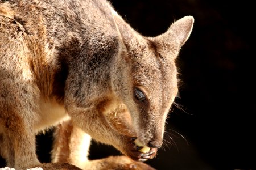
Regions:
<instances>
[{"instance_id":1,"label":"dark front paw of the wallaby holding food to its mouth","mask_svg":"<svg viewBox=\"0 0 256 170\"><path fill-rule=\"evenodd\" d=\"M155 158L156 152L157 152L156 148L150 148L150 151L148 151L147 153L143 153L139 151L143 147L135 145L134 143L135 139L136 138L129 138L129 137L126 138L125 145L123 146L123 152L124 152L123 154L139 162L144 162L148 159Z\"/></svg>"}]
</instances>

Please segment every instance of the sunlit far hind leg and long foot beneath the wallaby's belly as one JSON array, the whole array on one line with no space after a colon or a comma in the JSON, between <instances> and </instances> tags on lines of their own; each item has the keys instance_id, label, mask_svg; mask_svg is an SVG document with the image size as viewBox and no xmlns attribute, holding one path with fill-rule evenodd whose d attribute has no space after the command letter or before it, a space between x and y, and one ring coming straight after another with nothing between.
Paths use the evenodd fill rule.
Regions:
<instances>
[{"instance_id":1,"label":"sunlit far hind leg and long foot beneath the wallaby's belly","mask_svg":"<svg viewBox=\"0 0 256 170\"><path fill-rule=\"evenodd\" d=\"M119 118L116 119L118 119L118 122L121 121ZM72 121L63 122L63 124L57 126L55 131L52 161L56 163L68 162L84 170L154 170L154 168L149 165L131 160L127 156L109 156L104 159L88 161L89 143L90 136L73 125Z\"/></svg>"}]
</instances>

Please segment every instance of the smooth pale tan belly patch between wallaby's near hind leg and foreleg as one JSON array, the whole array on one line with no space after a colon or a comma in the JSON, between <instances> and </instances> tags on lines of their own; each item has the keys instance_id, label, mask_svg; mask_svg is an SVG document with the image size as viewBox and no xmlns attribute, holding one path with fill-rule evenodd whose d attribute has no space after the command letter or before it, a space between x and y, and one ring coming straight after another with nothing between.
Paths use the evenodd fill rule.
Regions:
<instances>
[{"instance_id":1,"label":"smooth pale tan belly patch between wallaby's near hind leg and foreleg","mask_svg":"<svg viewBox=\"0 0 256 170\"><path fill-rule=\"evenodd\" d=\"M69 116L64 106L57 103L40 103L38 123L35 125L36 131L40 131L68 120Z\"/></svg>"}]
</instances>

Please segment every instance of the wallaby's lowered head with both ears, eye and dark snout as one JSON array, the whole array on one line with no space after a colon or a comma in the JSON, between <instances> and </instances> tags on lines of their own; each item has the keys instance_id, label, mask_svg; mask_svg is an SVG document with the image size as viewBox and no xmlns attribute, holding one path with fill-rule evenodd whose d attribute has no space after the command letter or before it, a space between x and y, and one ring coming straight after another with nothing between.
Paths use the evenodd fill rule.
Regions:
<instances>
[{"instance_id":1,"label":"wallaby's lowered head with both ears, eye and dark snout","mask_svg":"<svg viewBox=\"0 0 256 170\"><path fill-rule=\"evenodd\" d=\"M118 20L118 17L115 18ZM192 16L174 22L162 35L143 37L127 24L118 27L119 58L112 74L115 94L125 103L139 141L151 148L162 145L164 124L177 95L175 59L193 27Z\"/></svg>"}]
</instances>

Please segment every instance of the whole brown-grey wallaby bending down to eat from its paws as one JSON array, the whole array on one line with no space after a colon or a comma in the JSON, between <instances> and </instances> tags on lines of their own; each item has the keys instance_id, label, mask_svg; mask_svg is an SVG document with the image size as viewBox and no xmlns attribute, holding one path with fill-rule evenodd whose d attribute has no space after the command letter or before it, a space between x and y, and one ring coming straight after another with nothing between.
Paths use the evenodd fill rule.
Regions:
<instances>
[{"instance_id":1,"label":"whole brown-grey wallaby bending down to eat from its paws","mask_svg":"<svg viewBox=\"0 0 256 170\"><path fill-rule=\"evenodd\" d=\"M193 21L185 16L145 37L105 0L0 1L0 155L7 165L150 169L141 162L162 145L178 92L175 59ZM56 125L55 163L40 164L35 134ZM88 163L82 152L90 138L127 157ZM139 151L135 139L150 151Z\"/></svg>"}]
</instances>

